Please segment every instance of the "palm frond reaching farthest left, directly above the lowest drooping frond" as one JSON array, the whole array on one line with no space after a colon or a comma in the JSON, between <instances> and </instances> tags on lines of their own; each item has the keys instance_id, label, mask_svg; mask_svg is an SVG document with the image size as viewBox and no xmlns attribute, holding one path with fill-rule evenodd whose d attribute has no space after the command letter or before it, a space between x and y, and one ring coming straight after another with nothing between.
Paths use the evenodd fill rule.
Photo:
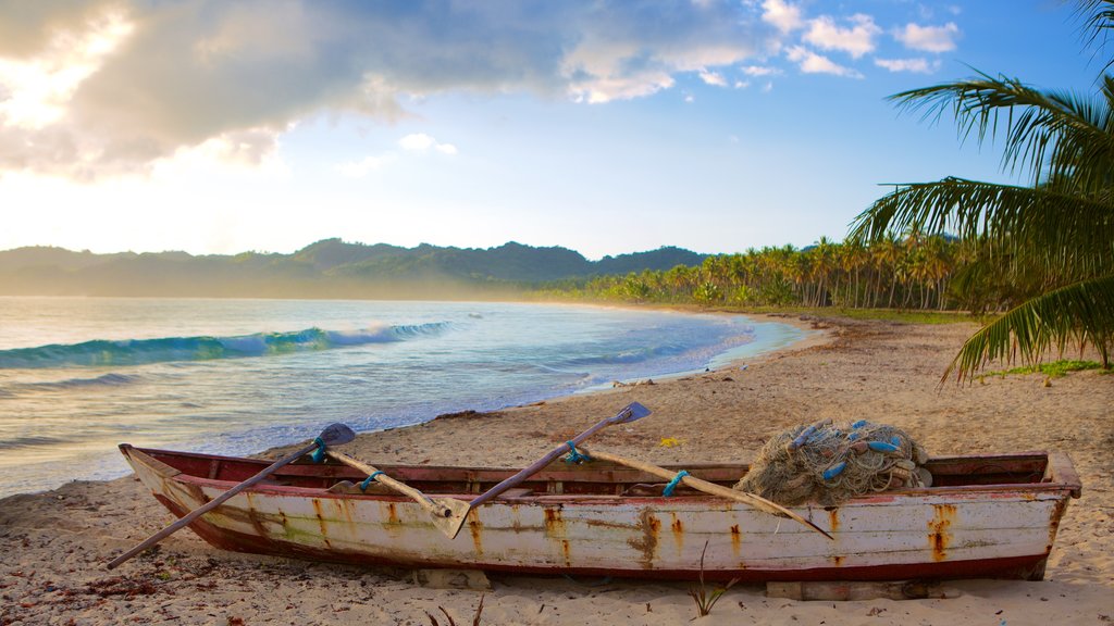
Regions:
<instances>
[{"instance_id":1,"label":"palm frond reaching farthest left, directly above the lowest drooping frond","mask_svg":"<svg viewBox=\"0 0 1114 626\"><path fill-rule=\"evenodd\" d=\"M948 177L899 185L851 224L850 236L879 241L889 233L987 238L1018 262L1079 277L1114 270L1114 203L1081 197L1057 185L1019 187Z\"/></svg>"}]
</instances>

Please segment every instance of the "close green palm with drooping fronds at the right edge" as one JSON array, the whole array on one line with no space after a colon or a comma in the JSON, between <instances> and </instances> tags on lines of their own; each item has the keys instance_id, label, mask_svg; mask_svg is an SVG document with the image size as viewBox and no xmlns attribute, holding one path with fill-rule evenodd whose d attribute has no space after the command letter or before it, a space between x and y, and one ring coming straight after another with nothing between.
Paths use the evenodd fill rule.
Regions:
<instances>
[{"instance_id":1,"label":"close green palm with drooping fronds at the right edge","mask_svg":"<svg viewBox=\"0 0 1114 626\"><path fill-rule=\"evenodd\" d=\"M1094 36L1114 29L1114 0L1077 0ZM1114 60L1103 68L1108 70ZM1037 271L1037 293L967 340L945 372L959 381L990 361L1037 362L1053 346L1091 344L1104 368L1114 348L1114 76L1083 97L1016 78L975 78L891 96L899 107L951 111L979 144L999 138L1004 170L1028 186L948 177L899 185L856 218L852 237L954 233L998 251L999 272Z\"/></svg>"}]
</instances>

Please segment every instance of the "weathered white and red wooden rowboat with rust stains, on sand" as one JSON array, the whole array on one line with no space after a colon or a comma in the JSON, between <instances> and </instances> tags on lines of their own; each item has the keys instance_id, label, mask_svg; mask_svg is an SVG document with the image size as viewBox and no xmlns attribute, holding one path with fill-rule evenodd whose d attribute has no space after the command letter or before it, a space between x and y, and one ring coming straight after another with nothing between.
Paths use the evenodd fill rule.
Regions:
<instances>
[{"instance_id":1,"label":"weathered white and red wooden rowboat with rust stains, on sand","mask_svg":"<svg viewBox=\"0 0 1114 626\"><path fill-rule=\"evenodd\" d=\"M267 461L139 449L120 451L182 517ZM379 466L437 498L468 501L515 470ZM408 568L694 579L1039 580L1079 479L1066 454L1029 452L934 459L931 488L886 491L840 507L792 510L797 522L603 461L549 464L520 488L468 512L449 539L416 501L349 482L365 477L331 460L296 462L198 518L190 528L234 551ZM732 485L741 464L691 464ZM657 482L656 488L644 483Z\"/></svg>"}]
</instances>

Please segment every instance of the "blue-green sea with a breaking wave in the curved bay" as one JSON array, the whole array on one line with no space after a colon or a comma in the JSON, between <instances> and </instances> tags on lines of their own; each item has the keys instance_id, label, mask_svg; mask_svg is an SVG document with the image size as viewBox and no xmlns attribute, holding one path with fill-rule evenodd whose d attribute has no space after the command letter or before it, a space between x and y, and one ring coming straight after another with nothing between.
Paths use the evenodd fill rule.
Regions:
<instances>
[{"instance_id":1,"label":"blue-green sea with a breaking wave in the curved bay","mask_svg":"<svg viewBox=\"0 0 1114 626\"><path fill-rule=\"evenodd\" d=\"M500 409L801 335L576 305L0 297L0 497L123 476L119 442L253 453L332 422L365 432Z\"/></svg>"}]
</instances>

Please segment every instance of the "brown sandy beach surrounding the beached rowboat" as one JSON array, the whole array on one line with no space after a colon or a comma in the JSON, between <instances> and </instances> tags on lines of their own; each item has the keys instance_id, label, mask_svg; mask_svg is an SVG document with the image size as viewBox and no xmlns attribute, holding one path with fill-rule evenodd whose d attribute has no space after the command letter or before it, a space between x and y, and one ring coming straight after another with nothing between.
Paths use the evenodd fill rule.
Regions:
<instances>
[{"instance_id":1,"label":"brown sandy beach surrounding the beached rowboat","mask_svg":"<svg viewBox=\"0 0 1114 626\"><path fill-rule=\"evenodd\" d=\"M654 410L597 434L654 462L745 461L774 432L822 418L906 429L936 454L1067 451L1083 479L1039 583L967 580L945 599L794 601L736 586L698 624L1110 624L1114 620L1114 375L938 380L969 324L830 320L811 342L739 366L472 418L361 436L371 462L521 467L631 401ZM461 407L461 410L468 407ZM663 447L665 438L681 441ZM476 450L482 450L477 458ZM0 500L0 625L470 624L480 594L358 569L213 549L182 531L116 571L105 563L172 520L131 478ZM492 577L482 624L688 623L688 585Z\"/></svg>"}]
</instances>

